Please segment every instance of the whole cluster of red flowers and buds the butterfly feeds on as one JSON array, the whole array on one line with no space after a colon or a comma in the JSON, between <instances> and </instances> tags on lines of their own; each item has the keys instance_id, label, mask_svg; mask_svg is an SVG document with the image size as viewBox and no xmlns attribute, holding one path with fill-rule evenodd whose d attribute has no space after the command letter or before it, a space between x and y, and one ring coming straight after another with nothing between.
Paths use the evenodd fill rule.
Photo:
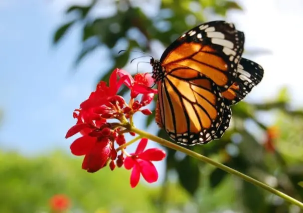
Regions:
<instances>
[{"instance_id":1,"label":"whole cluster of red flowers and buds the butterfly feeds on","mask_svg":"<svg viewBox=\"0 0 303 213\"><path fill-rule=\"evenodd\" d=\"M137 180L133 180L134 170L136 172L139 171L138 174L141 171L147 182L154 182L158 179L157 170L150 160L163 159L165 157L164 151L161 149L152 149L153 151L151 152L146 150L148 154L140 158L139 152L136 151L134 155L129 155L123 146L126 142L124 133L129 132L126 126L132 124L128 122L127 118L131 120L133 114L137 111L145 115L151 114L149 109L141 108L149 104L153 100L155 93L157 93L157 89L150 87L153 83L154 79L147 73L139 73L132 78L126 71L115 69L110 75L109 86L107 86L106 82L100 81L96 90L91 92L89 98L80 104L80 109L74 111L74 118L77 119L77 123L68 130L66 138L78 132L82 134L71 144L71 152L75 155L85 155L82 163L83 169L88 172L95 172L110 161L109 166L113 170L116 165L121 167L125 160L130 162L130 156L136 156L131 158L136 162L133 165L140 166L130 166L129 163L125 165L127 169L133 167L131 185L134 187L139 181L139 175L137 174ZM128 104L123 97L117 95L122 84L125 84L131 90L131 98ZM142 94L140 100L135 99L138 94ZM109 122L109 119L112 118L117 119L119 122ZM133 132L129 133L134 135ZM145 143L143 145L144 149L147 139L142 141ZM115 144L119 147L115 148ZM143 149L138 148L137 150L142 152ZM121 150L120 154L117 153L119 150ZM162 157L158 156L160 152ZM127 156L126 159L124 155ZM142 160L148 163L142 163ZM147 170L152 171L148 173Z\"/></svg>"}]
</instances>

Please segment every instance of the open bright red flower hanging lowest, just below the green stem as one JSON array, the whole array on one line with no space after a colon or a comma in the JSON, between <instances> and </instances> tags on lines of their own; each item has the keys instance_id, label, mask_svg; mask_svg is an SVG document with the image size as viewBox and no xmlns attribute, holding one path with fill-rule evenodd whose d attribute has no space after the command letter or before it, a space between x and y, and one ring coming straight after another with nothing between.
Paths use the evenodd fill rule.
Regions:
<instances>
[{"instance_id":1,"label":"open bright red flower hanging lowest, just below the green stem","mask_svg":"<svg viewBox=\"0 0 303 213\"><path fill-rule=\"evenodd\" d=\"M130 185L135 187L140 179L140 174L143 178L151 183L158 180L158 171L151 161L163 160L166 156L165 151L159 148L149 148L145 151L144 148L147 144L147 138L142 138L139 142L136 151L127 156L124 160L126 169L131 169Z\"/></svg>"}]
</instances>

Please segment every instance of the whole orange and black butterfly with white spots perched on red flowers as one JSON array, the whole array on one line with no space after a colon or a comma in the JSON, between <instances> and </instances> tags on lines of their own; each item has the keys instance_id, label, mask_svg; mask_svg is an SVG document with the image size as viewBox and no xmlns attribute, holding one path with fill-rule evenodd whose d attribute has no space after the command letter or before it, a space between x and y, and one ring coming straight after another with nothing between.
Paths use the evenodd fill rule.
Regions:
<instances>
[{"instance_id":1,"label":"whole orange and black butterfly with white spots perched on red flowers","mask_svg":"<svg viewBox=\"0 0 303 213\"><path fill-rule=\"evenodd\" d=\"M234 24L198 25L153 57L158 84L156 122L177 143L204 144L229 126L230 105L242 100L263 77L263 68L242 58L244 33Z\"/></svg>"}]
</instances>

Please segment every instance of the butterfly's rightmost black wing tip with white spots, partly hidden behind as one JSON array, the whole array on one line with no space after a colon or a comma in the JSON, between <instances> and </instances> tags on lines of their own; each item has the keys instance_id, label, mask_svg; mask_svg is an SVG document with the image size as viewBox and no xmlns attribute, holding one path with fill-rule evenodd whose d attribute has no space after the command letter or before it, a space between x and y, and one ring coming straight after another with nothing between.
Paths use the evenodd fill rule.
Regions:
<instances>
[{"instance_id":1,"label":"butterfly's rightmost black wing tip with white spots, partly hidden behind","mask_svg":"<svg viewBox=\"0 0 303 213\"><path fill-rule=\"evenodd\" d=\"M262 66L242 57L235 82L222 92L226 104L232 105L242 100L262 80L263 74Z\"/></svg>"}]
</instances>

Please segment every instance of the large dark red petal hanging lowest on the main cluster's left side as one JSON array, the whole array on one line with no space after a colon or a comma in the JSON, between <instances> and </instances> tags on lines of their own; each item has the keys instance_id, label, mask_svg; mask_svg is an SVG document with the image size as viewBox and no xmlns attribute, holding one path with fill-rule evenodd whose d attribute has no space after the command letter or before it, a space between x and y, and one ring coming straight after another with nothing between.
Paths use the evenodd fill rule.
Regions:
<instances>
[{"instance_id":1,"label":"large dark red petal hanging lowest on the main cluster's left side","mask_svg":"<svg viewBox=\"0 0 303 213\"><path fill-rule=\"evenodd\" d=\"M82 168L95 172L102 168L110 154L110 141L98 141L84 157Z\"/></svg>"}]
</instances>

